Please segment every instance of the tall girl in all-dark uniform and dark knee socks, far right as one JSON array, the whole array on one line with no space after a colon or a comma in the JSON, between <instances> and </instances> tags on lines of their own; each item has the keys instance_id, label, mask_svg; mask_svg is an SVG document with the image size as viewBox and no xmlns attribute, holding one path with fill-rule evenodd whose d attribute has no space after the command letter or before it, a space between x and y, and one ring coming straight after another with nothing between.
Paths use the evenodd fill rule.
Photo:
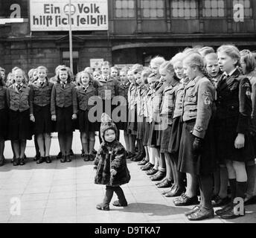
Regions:
<instances>
[{"instance_id":1,"label":"tall girl in all-dark uniform and dark knee socks, far right","mask_svg":"<svg viewBox=\"0 0 256 238\"><path fill-rule=\"evenodd\" d=\"M217 85L217 156L225 161L231 187L231 203L216 213L223 219L244 216L234 212L235 198L244 199L247 186L246 162L254 159L249 122L252 115L251 83L240 75L240 52L233 45L217 50L223 76Z\"/></svg>"}]
</instances>

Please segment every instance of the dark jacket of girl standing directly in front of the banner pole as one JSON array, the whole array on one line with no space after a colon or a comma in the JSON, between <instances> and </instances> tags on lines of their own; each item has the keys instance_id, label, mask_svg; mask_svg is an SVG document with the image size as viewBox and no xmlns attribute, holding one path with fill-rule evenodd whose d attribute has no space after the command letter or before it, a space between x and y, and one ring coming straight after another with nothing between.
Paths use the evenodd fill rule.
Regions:
<instances>
[{"instance_id":1,"label":"dark jacket of girl standing directly in front of the banner pole","mask_svg":"<svg viewBox=\"0 0 256 238\"><path fill-rule=\"evenodd\" d=\"M60 83L54 84L51 90L51 115L56 115L56 106L73 106L73 113L77 113L77 91L73 84L66 83L64 89Z\"/></svg>"}]
</instances>

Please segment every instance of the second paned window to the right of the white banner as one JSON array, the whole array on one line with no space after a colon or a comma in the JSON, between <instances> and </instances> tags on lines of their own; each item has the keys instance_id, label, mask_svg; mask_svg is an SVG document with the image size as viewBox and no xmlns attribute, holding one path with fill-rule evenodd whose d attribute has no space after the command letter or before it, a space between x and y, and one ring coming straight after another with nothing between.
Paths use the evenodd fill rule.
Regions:
<instances>
[{"instance_id":1,"label":"second paned window to the right of the white banner","mask_svg":"<svg viewBox=\"0 0 256 238\"><path fill-rule=\"evenodd\" d=\"M164 0L141 0L141 10L144 18L162 18Z\"/></svg>"}]
</instances>

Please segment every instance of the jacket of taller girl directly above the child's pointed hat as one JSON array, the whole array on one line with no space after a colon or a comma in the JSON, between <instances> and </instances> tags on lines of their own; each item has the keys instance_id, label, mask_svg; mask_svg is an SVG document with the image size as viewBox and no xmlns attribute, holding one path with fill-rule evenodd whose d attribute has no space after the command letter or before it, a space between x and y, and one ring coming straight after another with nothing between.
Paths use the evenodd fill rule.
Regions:
<instances>
[{"instance_id":1,"label":"jacket of taller girl directly above the child's pointed hat","mask_svg":"<svg viewBox=\"0 0 256 238\"><path fill-rule=\"evenodd\" d=\"M110 100L118 95L118 80L115 80L110 76L109 80L106 81L101 75L95 83L95 86L97 87L99 97L101 97L103 100Z\"/></svg>"}]
</instances>

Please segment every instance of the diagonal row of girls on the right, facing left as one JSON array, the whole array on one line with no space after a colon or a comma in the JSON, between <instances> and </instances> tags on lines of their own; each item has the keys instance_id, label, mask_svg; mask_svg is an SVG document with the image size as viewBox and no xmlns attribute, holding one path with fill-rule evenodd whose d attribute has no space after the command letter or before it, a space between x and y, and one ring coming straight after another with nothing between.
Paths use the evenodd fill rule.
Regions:
<instances>
[{"instance_id":1,"label":"diagonal row of girls on the right, facing left","mask_svg":"<svg viewBox=\"0 0 256 238\"><path fill-rule=\"evenodd\" d=\"M243 205L256 202L252 52L187 48L170 61L153 58L149 68L134 65L127 78L128 158L169 187L163 196L174 205L195 205L188 219L212 218L214 207L222 219L244 216Z\"/></svg>"}]
</instances>

